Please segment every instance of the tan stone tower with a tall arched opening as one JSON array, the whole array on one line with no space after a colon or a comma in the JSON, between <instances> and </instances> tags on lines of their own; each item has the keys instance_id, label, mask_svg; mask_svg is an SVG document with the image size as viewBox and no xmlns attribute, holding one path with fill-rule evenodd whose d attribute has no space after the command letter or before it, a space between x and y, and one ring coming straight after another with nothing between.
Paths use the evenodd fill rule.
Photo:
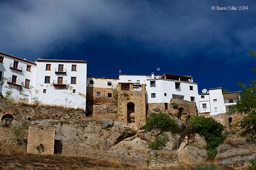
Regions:
<instances>
[{"instance_id":1,"label":"tan stone tower with a tall arched opening","mask_svg":"<svg viewBox=\"0 0 256 170\"><path fill-rule=\"evenodd\" d=\"M141 91L134 91L134 84L126 83L129 86L129 90L122 90L123 83L118 83L118 100L117 100L117 114L118 120L123 122L129 122L130 118L134 116L136 124L140 124L141 121L146 119L146 95L145 84L141 84ZM134 115L129 115L128 107L134 105Z\"/></svg>"}]
</instances>

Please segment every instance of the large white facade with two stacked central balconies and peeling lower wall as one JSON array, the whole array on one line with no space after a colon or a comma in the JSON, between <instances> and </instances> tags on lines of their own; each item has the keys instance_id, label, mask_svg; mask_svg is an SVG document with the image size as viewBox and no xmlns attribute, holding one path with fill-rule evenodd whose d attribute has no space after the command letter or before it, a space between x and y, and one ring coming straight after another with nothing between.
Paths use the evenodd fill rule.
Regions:
<instances>
[{"instance_id":1,"label":"large white facade with two stacked central balconies and peeling lower wall","mask_svg":"<svg viewBox=\"0 0 256 170\"><path fill-rule=\"evenodd\" d=\"M85 109L86 61L38 59L35 97L45 104Z\"/></svg>"}]
</instances>

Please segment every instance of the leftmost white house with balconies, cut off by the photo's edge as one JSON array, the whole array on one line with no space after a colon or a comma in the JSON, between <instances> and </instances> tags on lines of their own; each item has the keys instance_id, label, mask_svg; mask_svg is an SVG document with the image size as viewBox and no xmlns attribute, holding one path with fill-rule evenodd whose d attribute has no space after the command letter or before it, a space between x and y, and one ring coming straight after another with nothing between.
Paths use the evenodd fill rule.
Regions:
<instances>
[{"instance_id":1,"label":"leftmost white house with balconies, cut off by the photo's edge","mask_svg":"<svg viewBox=\"0 0 256 170\"><path fill-rule=\"evenodd\" d=\"M0 52L0 92L31 102L35 92L36 63Z\"/></svg>"}]
</instances>

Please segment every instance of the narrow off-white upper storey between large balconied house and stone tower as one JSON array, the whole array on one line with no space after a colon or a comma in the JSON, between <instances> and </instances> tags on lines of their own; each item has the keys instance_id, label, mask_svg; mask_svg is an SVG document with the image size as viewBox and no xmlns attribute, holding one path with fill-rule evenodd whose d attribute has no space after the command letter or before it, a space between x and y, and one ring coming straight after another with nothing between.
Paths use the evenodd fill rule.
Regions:
<instances>
[{"instance_id":1,"label":"narrow off-white upper storey between large balconied house and stone tower","mask_svg":"<svg viewBox=\"0 0 256 170\"><path fill-rule=\"evenodd\" d=\"M118 78L87 76L86 87L116 89L118 82Z\"/></svg>"}]
</instances>

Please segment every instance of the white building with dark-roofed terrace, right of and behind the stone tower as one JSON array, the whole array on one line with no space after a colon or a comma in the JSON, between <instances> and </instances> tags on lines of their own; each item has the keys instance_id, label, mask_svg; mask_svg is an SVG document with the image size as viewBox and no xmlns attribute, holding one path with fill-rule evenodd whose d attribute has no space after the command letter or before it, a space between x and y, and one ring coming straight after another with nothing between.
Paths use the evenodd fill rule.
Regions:
<instances>
[{"instance_id":1,"label":"white building with dark-roofed terrace, right of and behind the stone tower","mask_svg":"<svg viewBox=\"0 0 256 170\"><path fill-rule=\"evenodd\" d=\"M170 103L172 98L196 102L199 107L197 83L192 76L119 75L119 82L146 84L146 103Z\"/></svg>"}]
</instances>

